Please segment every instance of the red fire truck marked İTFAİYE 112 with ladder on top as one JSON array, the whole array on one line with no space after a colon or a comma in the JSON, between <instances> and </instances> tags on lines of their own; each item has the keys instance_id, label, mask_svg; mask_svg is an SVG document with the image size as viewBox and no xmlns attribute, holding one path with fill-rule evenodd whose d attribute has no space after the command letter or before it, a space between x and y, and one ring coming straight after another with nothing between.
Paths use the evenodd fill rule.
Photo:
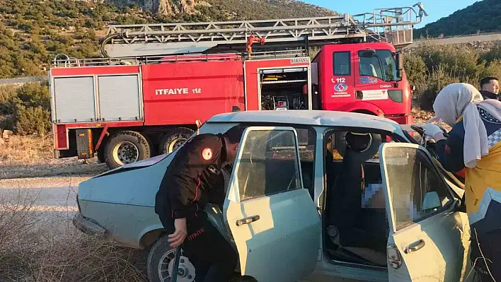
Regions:
<instances>
[{"instance_id":1,"label":"red fire truck marked \u0130TFA\u0130YE 112 with ladder on top","mask_svg":"<svg viewBox=\"0 0 501 282\"><path fill-rule=\"evenodd\" d=\"M54 58L54 156L97 155L117 168L170 153L197 124L236 110L411 123L412 89L396 48L412 42L423 15L418 3L356 16L110 25L103 58ZM319 49L313 60L311 49Z\"/></svg>"}]
</instances>

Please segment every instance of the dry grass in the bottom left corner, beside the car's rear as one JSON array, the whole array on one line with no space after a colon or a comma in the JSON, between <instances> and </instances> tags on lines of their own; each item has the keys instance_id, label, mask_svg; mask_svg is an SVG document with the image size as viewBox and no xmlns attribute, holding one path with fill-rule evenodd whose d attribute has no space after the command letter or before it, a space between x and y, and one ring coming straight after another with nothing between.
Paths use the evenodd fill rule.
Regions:
<instances>
[{"instance_id":1,"label":"dry grass in the bottom left corner, beside the car's rear","mask_svg":"<svg viewBox=\"0 0 501 282\"><path fill-rule=\"evenodd\" d=\"M85 235L33 211L36 202L25 192L0 199L0 281L147 281L144 251Z\"/></svg>"}]
</instances>

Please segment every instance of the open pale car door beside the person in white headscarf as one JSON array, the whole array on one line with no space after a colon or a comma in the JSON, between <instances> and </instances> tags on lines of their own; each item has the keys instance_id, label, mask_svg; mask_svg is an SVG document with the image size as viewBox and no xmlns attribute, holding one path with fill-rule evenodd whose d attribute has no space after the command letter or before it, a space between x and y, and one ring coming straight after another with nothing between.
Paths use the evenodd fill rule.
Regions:
<instances>
[{"instance_id":1,"label":"open pale car door beside the person in white headscarf","mask_svg":"<svg viewBox=\"0 0 501 282\"><path fill-rule=\"evenodd\" d=\"M416 144L384 143L379 156L390 225L388 280L463 281L468 221L431 155Z\"/></svg>"}]
</instances>

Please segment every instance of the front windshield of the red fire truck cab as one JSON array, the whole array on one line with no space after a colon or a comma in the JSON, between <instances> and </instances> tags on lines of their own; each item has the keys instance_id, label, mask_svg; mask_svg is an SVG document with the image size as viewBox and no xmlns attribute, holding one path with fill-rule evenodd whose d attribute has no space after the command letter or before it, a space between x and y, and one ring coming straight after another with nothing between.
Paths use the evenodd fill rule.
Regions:
<instances>
[{"instance_id":1,"label":"front windshield of the red fire truck cab","mask_svg":"<svg viewBox=\"0 0 501 282\"><path fill-rule=\"evenodd\" d=\"M376 55L369 58L362 57L364 50L358 52L359 73L361 76L374 76L383 81L396 80L396 62L388 49L376 50Z\"/></svg>"}]
</instances>

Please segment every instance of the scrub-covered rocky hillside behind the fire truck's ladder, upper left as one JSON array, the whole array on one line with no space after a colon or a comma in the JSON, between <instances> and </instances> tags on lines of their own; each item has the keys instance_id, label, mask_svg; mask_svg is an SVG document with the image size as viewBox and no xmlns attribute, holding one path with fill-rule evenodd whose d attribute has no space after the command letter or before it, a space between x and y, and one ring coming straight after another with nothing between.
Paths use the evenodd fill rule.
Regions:
<instances>
[{"instance_id":1,"label":"scrub-covered rocky hillside behind the fire truck's ladder, upper left","mask_svg":"<svg viewBox=\"0 0 501 282\"><path fill-rule=\"evenodd\" d=\"M0 78L45 75L59 53L98 56L107 24L326 16L294 0L0 0Z\"/></svg>"}]
</instances>

